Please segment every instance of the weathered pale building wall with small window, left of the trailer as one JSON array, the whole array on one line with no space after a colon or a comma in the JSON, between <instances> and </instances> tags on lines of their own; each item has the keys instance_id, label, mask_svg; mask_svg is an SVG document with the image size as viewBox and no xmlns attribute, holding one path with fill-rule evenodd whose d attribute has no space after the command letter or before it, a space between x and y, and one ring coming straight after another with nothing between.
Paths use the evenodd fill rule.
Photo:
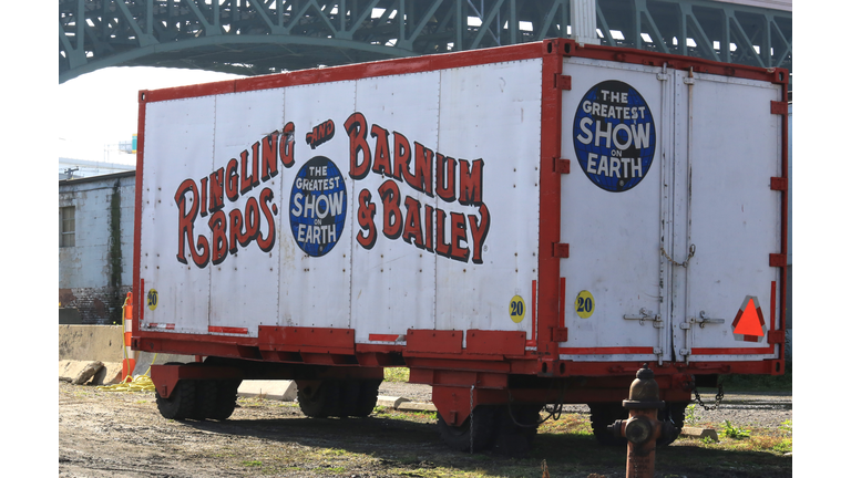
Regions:
<instances>
[{"instance_id":1,"label":"weathered pale building wall with small window, left of the trailer","mask_svg":"<svg viewBox=\"0 0 851 478\"><path fill-rule=\"evenodd\" d=\"M135 173L61 180L59 208L66 206L76 232L73 247L59 239L60 308L76 309L83 324L121 324L133 282Z\"/></svg>"}]
</instances>

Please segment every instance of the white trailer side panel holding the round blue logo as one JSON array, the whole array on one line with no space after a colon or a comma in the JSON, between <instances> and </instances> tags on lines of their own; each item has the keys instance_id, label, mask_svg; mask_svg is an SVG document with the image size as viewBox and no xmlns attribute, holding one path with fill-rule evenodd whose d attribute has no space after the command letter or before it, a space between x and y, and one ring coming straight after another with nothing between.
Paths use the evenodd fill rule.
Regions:
<instances>
[{"instance_id":1,"label":"white trailer side panel holding the round blue logo","mask_svg":"<svg viewBox=\"0 0 851 478\"><path fill-rule=\"evenodd\" d=\"M353 199L342 124L353 107L353 82L286 89L295 165L281 178L280 325L350 326ZM308 133L328 119L332 138L311 147Z\"/></svg>"}]
</instances>

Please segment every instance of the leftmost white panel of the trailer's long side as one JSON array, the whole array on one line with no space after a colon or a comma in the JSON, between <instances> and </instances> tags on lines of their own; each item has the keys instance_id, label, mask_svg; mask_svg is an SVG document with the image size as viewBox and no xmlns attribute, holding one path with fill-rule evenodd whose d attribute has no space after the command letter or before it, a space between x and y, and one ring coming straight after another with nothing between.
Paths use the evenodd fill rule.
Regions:
<instances>
[{"instance_id":1,"label":"leftmost white panel of the trailer's long side","mask_svg":"<svg viewBox=\"0 0 851 478\"><path fill-rule=\"evenodd\" d=\"M209 267L201 256L198 236L206 235L199 212L197 179L213 167L215 100L199 97L148 103L145 112L145 154L142 184L140 278L145 291L156 291L156 306L146 306L141 326L174 324L175 332L206 333ZM195 191L175 196L185 179L195 180ZM185 197L185 199L183 199ZM181 235L182 215L195 209L192 235ZM192 239L189 239L192 238ZM178 245L183 243L183 261ZM193 246L195 253L193 254ZM198 267L196 257L202 267Z\"/></svg>"}]
</instances>

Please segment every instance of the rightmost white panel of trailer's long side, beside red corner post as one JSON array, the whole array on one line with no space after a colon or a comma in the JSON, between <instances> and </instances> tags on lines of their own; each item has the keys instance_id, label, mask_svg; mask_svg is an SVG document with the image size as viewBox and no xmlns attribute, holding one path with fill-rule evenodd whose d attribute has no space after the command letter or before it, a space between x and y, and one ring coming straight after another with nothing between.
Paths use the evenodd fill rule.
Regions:
<instances>
[{"instance_id":1,"label":"rightmost white panel of trailer's long side, beside red corner post","mask_svg":"<svg viewBox=\"0 0 851 478\"><path fill-rule=\"evenodd\" d=\"M455 159L455 201L447 211L466 220L466 260L437 257L441 330L526 331L532 339L532 281L537 278L541 158L541 60L447 70L440 77L438 149ZM463 205L461 160L482 167L482 205ZM484 212L486 210L486 214ZM481 263L473 260L472 221L488 217ZM471 219L472 218L472 219ZM522 309L516 314L517 303ZM512 303L514 309L512 310ZM512 311L515 312L512 315Z\"/></svg>"}]
</instances>

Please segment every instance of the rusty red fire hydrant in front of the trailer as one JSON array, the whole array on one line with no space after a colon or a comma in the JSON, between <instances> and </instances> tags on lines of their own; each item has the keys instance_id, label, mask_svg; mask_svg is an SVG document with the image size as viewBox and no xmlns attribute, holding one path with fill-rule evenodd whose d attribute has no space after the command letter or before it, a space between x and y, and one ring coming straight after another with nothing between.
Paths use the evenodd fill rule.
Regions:
<instances>
[{"instance_id":1,"label":"rusty red fire hydrant in front of the trailer","mask_svg":"<svg viewBox=\"0 0 851 478\"><path fill-rule=\"evenodd\" d=\"M659 384L647 364L635 374L629 398L624 401L629 419L616 420L608 430L628 440L626 445L626 478L653 478L656 468L656 440L679 433L670 422L659 422L658 411L665 408L659 399Z\"/></svg>"}]
</instances>

